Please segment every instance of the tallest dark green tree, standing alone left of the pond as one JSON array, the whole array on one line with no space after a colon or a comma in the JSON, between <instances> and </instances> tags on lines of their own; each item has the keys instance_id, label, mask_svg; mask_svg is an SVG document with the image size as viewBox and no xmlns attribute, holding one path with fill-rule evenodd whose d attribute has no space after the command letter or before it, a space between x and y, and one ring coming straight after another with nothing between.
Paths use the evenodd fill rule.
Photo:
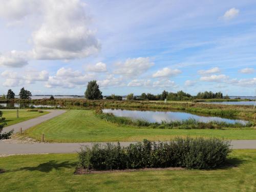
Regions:
<instances>
[{"instance_id":1,"label":"tallest dark green tree, standing alone left of the pond","mask_svg":"<svg viewBox=\"0 0 256 192\"><path fill-rule=\"evenodd\" d=\"M86 92L84 92L84 96L87 99L102 99L102 92L99 90L99 86L96 80L88 82Z\"/></svg>"}]
</instances>

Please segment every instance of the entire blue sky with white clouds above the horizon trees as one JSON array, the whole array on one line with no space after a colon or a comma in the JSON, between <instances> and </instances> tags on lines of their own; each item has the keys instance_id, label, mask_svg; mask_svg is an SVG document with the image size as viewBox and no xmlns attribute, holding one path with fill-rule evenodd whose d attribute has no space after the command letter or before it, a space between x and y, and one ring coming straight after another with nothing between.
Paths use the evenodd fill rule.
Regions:
<instances>
[{"instance_id":1,"label":"entire blue sky with white clouds above the horizon trees","mask_svg":"<svg viewBox=\"0 0 256 192\"><path fill-rule=\"evenodd\" d=\"M0 94L256 95L256 1L0 0Z\"/></svg>"}]
</instances>

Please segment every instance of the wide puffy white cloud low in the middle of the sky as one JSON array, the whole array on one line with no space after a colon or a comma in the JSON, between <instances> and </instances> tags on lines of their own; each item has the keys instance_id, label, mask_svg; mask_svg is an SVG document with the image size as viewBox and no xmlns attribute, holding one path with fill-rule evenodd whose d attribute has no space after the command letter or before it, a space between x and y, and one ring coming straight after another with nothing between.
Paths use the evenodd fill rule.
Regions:
<instances>
[{"instance_id":1,"label":"wide puffy white cloud low in the middle of the sky","mask_svg":"<svg viewBox=\"0 0 256 192\"><path fill-rule=\"evenodd\" d=\"M124 63L118 62L116 66L115 74L133 77L145 73L154 66L154 62L149 57L138 57L126 59Z\"/></svg>"}]
</instances>

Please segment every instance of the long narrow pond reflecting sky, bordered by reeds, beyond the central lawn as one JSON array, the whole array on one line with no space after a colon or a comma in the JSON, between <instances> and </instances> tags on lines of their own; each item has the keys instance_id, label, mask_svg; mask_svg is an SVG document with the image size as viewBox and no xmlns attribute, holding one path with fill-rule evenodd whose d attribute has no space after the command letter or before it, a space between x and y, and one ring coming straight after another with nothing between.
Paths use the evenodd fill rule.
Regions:
<instances>
[{"instance_id":1,"label":"long narrow pond reflecting sky, bordered by reeds, beyond the central lawn","mask_svg":"<svg viewBox=\"0 0 256 192\"><path fill-rule=\"evenodd\" d=\"M214 116L201 116L194 115L186 112L173 112L173 111L138 111L138 110L121 110L121 109L103 109L103 113L112 113L118 117L130 117L132 119L144 119L148 122L160 122L161 121L175 121L186 120L194 118L200 122L219 121L226 123L242 123L246 124L248 121L240 119L227 119Z\"/></svg>"}]
</instances>

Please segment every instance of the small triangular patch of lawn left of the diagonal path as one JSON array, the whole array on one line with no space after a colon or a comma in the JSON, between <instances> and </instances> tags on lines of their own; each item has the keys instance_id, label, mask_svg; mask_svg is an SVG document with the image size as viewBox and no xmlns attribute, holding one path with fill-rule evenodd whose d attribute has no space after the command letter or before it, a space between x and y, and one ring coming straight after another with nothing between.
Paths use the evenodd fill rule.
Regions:
<instances>
[{"instance_id":1,"label":"small triangular patch of lawn left of the diagonal path","mask_svg":"<svg viewBox=\"0 0 256 192\"><path fill-rule=\"evenodd\" d=\"M16 124L22 121L26 121L29 119L33 119L36 117L39 117L41 115L46 115L49 112L44 111L43 113L39 112L29 112L26 110L19 110L19 118L17 118L17 112L16 110L0 110L3 112L3 117L6 118L6 123L8 125Z\"/></svg>"}]
</instances>

